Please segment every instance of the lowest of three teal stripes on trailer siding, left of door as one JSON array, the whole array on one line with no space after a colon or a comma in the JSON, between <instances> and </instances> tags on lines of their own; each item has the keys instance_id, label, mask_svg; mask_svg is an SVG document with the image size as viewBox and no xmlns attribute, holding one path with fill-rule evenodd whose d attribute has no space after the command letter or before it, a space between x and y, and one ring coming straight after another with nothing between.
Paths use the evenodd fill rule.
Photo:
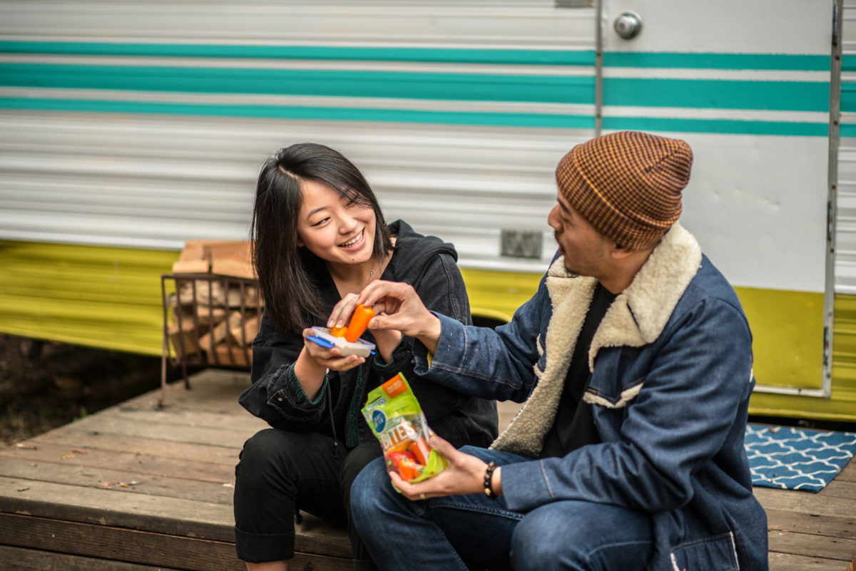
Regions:
<instances>
[{"instance_id":1,"label":"lowest of three teal stripes on trailer siding, left of door","mask_svg":"<svg viewBox=\"0 0 856 571\"><path fill-rule=\"evenodd\" d=\"M199 103L151 103L0 97L0 109L86 111L97 113L151 113L163 115L211 115L313 121L387 121L497 127L552 127L593 129L591 115L538 113L484 113L412 109L358 109L276 105L228 105Z\"/></svg>"}]
</instances>

